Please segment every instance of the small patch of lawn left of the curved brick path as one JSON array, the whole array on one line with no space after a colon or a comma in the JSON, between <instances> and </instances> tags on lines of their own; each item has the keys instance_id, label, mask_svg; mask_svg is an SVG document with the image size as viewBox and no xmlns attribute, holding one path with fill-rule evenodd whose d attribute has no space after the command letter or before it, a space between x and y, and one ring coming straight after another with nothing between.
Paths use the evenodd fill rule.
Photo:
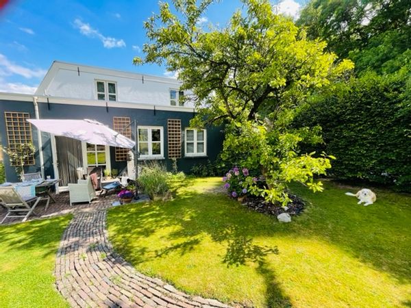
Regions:
<instances>
[{"instance_id":1,"label":"small patch of lawn left of the curved brick path","mask_svg":"<svg viewBox=\"0 0 411 308\"><path fill-rule=\"evenodd\" d=\"M70 216L0 227L0 307L69 307L55 289L55 254Z\"/></svg>"}]
</instances>

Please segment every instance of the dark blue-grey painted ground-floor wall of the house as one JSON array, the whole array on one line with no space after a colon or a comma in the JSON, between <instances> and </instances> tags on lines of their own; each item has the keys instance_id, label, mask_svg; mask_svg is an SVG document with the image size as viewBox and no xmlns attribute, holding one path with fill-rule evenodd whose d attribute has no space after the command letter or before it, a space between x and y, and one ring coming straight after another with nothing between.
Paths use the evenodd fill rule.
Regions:
<instances>
[{"instance_id":1,"label":"dark blue-grey painted ground-floor wall of the house","mask_svg":"<svg viewBox=\"0 0 411 308\"><path fill-rule=\"evenodd\" d=\"M168 140L167 140L167 120L182 120L182 129L189 127L190 119L195 115L193 112L181 111L164 111L147 109L135 109L124 107L100 107L90 105L69 105L62 103L38 103L39 116L42 119L84 119L90 118L97 120L109 127L113 127L113 117L129 117L131 120L137 120L141 126L161 126L164 129L164 162L168 169L171 168L171 159L168 157ZM32 101L11 101L0 99L0 140L3 147L8 146L7 131L5 127L4 112L27 112L30 118L36 118L34 103ZM214 161L220 153L223 143L223 132L219 127L207 127L207 156L206 157L184 157L184 142L182 142L182 158L177 159L179 170L190 172L195 164L206 164L208 159ZM38 150L38 136L36 127L32 126L33 143ZM110 148L111 166L122 170L126 162L116 162L114 148ZM49 133L42 133L42 152L45 164L45 175L53 174L53 158L51 151L51 140ZM25 167L25 172L36 172L40 170L40 159L36 152L36 164ZM4 155L5 174L8 181L17 181L18 177L14 167L10 166L7 155Z\"/></svg>"}]
</instances>

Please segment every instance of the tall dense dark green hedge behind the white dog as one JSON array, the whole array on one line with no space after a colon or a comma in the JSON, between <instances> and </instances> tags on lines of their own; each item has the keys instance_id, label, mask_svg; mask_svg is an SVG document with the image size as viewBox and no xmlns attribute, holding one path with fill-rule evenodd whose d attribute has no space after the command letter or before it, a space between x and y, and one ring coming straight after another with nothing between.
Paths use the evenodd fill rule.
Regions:
<instances>
[{"instance_id":1,"label":"tall dense dark green hedge behind the white dog","mask_svg":"<svg viewBox=\"0 0 411 308\"><path fill-rule=\"evenodd\" d=\"M411 191L411 100L408 75L365 75L316 97L295 118L298 127L320 125L336 156L331 175L395 184ZM306 151L312 151L307 147Z\"/></svg>"}]
</instances>

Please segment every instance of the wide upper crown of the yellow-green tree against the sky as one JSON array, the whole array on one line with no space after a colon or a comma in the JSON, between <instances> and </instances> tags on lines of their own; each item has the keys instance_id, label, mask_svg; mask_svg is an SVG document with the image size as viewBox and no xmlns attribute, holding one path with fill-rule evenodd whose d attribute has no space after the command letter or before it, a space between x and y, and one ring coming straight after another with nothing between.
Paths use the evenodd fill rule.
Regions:
<instances>
[{"instance_id":1,"label":"wide upper crown of the yellow-green tree against the sky","mask_svg":"<svg viewBox=\"0 0 411 308\"><path fill-rule=\"evenodd\" d=\"M145 59L135 64L164 64L179 72L182 89L190 89L199 115L193 126L222 119L245 120L258 112L277 114L303 101L312 89L353 68L336 64L325 42L308 40L289 18L273 13L268 0L244 0L225 27L204 31L197 23L212 1L174 0L145 23L151 40Z\"/></svg>"}]
</instances>

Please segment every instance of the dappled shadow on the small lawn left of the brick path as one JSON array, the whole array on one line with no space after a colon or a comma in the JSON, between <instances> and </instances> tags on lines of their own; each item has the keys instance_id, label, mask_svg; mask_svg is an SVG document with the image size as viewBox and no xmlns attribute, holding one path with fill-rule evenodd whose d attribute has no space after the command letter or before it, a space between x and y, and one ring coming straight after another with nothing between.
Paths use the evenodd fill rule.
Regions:
<instances>
[{"instance_id":1,"label":"dappled shadow on the small lawn left of the brick path","mask_svg":"<svg viewBox=\"0 0 411 308\"><path fill-rule=\"evenodd\" d=\"M27 253L34 249L36 253L41 251L42 257L54 255L70 218L71 215L0 226L1 253L16 250Z\"/></svg>"}]
</instances>

